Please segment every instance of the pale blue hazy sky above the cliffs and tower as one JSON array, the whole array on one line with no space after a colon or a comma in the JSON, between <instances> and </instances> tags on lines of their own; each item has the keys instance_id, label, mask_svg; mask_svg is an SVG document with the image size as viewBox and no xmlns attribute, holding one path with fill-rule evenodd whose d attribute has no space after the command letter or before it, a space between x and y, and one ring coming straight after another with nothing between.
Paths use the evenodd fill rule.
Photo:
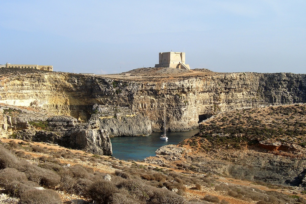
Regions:
<instances>
[{"instance_id":1,"label":"pale blue hazy sky above the cliffs and tower","mask_svg":"<svg viewBox=\"0 0 306 204\"><path fill-rule=\"evenodd\" d=\"M306 73L305 0L0 0L0 64L114 74L184 52L191 69Z\"/></svg>"}]
</instances>

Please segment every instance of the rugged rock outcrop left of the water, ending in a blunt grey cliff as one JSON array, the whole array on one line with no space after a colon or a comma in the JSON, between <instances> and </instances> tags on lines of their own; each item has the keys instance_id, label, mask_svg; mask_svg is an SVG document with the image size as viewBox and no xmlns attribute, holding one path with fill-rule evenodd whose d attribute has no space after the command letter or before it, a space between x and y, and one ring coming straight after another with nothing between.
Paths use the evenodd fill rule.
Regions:
<instances>
[{"instance_id":1,"label":"rugged rock outcrop left of the water, ending in a blunt grey cliff","mask_svg":"<svg viewBox=\"0 0 306 204\"><path fill-rule=\"evenodd\" d=\"M39 111L8 107L4 109L9 110L11 115L0 115L0 124L3 124L0 126L2 137L10 135L10 128L11 131L14 130L13 137L17 139L55 143L94 154L113 154L109 134L106 130L99 129L99 126L78 123L72 116L44 115ZM0 108L0 113L4 109Z\"/></svg>"}]
</instances>

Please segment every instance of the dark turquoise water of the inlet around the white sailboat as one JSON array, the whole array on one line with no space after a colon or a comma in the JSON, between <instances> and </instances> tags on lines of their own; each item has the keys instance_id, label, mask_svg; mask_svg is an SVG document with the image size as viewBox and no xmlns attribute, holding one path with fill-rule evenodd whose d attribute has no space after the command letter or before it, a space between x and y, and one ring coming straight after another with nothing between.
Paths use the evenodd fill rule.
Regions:
<instances>
[{"instance_id":1,"label":"dark turquoise water of the inlet around the white sailboat","mask_svg":"<svg viewBox=\"0 0 306 204\"><path fill-rule=\"evenodd\" d=\"M162 132L155 132L149 136L112 137L113 157L122 160L140 160L155 156L155 151L167 144L178 144L180 141L192 137L199 129L188 132L168 132L168 141L159 139Z\"/></svg>"}]
</instances>

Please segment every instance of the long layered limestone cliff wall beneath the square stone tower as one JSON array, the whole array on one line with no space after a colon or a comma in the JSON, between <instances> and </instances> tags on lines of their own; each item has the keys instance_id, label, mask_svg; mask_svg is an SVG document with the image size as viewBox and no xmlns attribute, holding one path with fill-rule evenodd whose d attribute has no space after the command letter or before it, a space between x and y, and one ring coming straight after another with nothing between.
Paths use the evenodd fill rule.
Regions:
<instances>
[{"instance_id":1,"label":"long layered limestone cliff wall beneath the square stone tower","mask_svg":"<svg viewBox=\"0 0 306 204\"><path fill-rule=\"evenodd\" d=\"M306 102L306 75L215 73L174 81L128 81L97 76L6 69L0 71L0 103L41 107L87 121L94 104L128 107L151 122L152 131L186 131L199 116L268 104ZM116 128L115 128L116 129Z\"/></svg>"}]
</instances>

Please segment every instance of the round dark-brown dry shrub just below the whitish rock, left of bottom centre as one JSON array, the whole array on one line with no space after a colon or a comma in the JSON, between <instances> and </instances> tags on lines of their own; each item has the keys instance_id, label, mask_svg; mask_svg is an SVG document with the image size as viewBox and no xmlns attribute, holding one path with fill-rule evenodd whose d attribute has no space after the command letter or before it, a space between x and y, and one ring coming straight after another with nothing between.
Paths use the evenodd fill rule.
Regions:
<instances>
[{"instance_id":1,"label":"round dark-brown dry shrub just below the whitish rock, left of bottom centre","mask_svg":"<svg viewBox=\"0 0 306 204\"><path fill-rule=\"evenodd\" d=\"M104 204L110 202L113 194L118 192L119 189L111 181L106 180L95 181L88 189L88 195L91 199Z\"/></svg>"}]
</instances>

